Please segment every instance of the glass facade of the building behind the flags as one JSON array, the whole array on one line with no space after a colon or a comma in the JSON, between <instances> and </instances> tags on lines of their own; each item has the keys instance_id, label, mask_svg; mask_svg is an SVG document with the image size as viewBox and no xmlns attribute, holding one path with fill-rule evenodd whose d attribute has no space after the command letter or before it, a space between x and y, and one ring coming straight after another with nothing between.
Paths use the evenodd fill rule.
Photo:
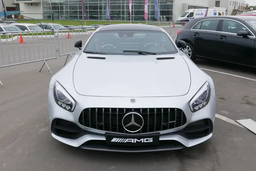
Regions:
<instances>
[{"instance_id":1,"label":"glass facade of the building behind the flags","mask_svg":"<svg viewBox=\"0 0 256 171\"><path fill-rule=\"evenodd\" d=\"M166 21L172 21L173 0L158 0L160 16ZM129 0L110 0L111 20L130 20ZM144 20L145 0L132 0L132 15L134 21ZM107 0L84 0L84 6L89 20L106 20ZM52 0L55 19L68 17L84 20L81 0ZM44 19L51 19L49 0L43 0ZM59 14L59 16L58 16ZM148 0L148 20L154 21L154 0Z\"/></svg>"}]
</instances>

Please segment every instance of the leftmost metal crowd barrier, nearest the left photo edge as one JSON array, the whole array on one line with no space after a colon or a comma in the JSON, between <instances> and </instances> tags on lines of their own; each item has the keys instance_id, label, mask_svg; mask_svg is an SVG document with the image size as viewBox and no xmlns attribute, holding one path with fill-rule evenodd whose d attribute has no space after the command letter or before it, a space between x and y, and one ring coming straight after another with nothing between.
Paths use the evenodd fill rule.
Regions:
<instances>
[{"instance_id":1,"label":"leftmost metal crowd barrier, nearest the left photo edge","mask_svg":"<svg viewBox=\"0 0 256 171\"><path fill-rule=\"evenodd\" d=\"M44 61L39 72L46 65L52 74L47 61L57 58L55 40L53 31L1 32L0 68Z\"/></svg>"}]
</instances>

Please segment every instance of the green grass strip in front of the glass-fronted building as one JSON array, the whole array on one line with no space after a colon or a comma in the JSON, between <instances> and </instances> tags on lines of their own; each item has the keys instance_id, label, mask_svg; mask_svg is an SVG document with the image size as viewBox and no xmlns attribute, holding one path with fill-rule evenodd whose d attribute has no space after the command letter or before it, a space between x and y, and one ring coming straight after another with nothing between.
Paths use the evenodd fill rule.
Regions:
<instances>
[{"instance_id":1,"label":"green grass strip in front of the glass-fronted building","mask_svg":"<svg viewBox=\"0 0 256 171\"><path fill-rule=\"evenodd\" d=\"M39 23L38 20L15 20L17 23ZM52 23L52 20L40 20L41 23ZM61 25L72 25L72 26L81 26L81 23L83 26L85 26L84 21L81 20L81 23L78 20L54 20L54 23L58 23ZM94 24L109 24L109 21L93 21L93 20L87 20L86 26L94 25ZM130 23L130 21L112 21L113 24L120 24L120 23ZM135 22L134 23L141 23L141 22ZM144 22L145 23L145 22Z\"/></svg>"}]
</instances>

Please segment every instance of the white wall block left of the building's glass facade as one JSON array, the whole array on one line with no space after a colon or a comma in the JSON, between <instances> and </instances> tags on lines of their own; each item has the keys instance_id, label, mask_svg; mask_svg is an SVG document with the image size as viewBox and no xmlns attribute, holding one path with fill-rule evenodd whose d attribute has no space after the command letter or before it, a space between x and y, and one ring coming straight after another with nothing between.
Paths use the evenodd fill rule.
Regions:
<instances>
[{"instance_id":1,"label":"white wall block left of the building's glass facade","mask_svg":"<svg viewBox=\"0 0 256 171\"><path fill-rule=\"evenodd\" d=\"M35 4L35 3L33 3ZM24 11L23 15L35 19L43 19L43 12L42 12L42 6L41 3L36 3L37 6L33 5L31 6L30 3L20 3L20 11ZM30 14L27 14L30 13ZM24 17L25 19L26 17Z\"/></svg>"}]
</instances>

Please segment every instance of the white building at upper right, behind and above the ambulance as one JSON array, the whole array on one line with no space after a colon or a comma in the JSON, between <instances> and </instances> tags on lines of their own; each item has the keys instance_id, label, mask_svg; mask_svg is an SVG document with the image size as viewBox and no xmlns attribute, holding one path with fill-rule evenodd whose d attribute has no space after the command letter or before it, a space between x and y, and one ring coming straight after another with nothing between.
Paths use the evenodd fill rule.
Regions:
<instances>
[{"instance_id":1,"label":"white building at upper right, behind and above the ambulance","mask_svg":"<svg viewBox=\"0 0 256 171\"><path fill-rule=\"evenodd\" d=\"M210 0L209 6L226 8L226 15L242 14L246 11L245 0Z\"/></svg>"}]
</instances>

